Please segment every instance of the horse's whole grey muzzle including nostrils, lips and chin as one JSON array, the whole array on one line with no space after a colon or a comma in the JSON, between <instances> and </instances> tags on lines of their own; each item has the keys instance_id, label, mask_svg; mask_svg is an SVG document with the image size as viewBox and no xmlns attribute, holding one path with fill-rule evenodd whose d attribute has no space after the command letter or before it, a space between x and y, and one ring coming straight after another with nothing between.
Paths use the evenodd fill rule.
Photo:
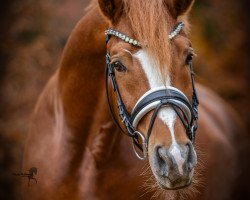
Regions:
<instances>
[{"instance_id":1,"label":"horse's whole grey muzzle including nostrils, lips and chin","mask_svg":"<svg viewBox=\"0 0 250 200\"><path fill-rule=\"evenodd\" d=\"M149 153L149 163L161 188L180 189L191 184L197 156L191 142L169 148L157 145Z\"/></svg>"}]
</instances>

